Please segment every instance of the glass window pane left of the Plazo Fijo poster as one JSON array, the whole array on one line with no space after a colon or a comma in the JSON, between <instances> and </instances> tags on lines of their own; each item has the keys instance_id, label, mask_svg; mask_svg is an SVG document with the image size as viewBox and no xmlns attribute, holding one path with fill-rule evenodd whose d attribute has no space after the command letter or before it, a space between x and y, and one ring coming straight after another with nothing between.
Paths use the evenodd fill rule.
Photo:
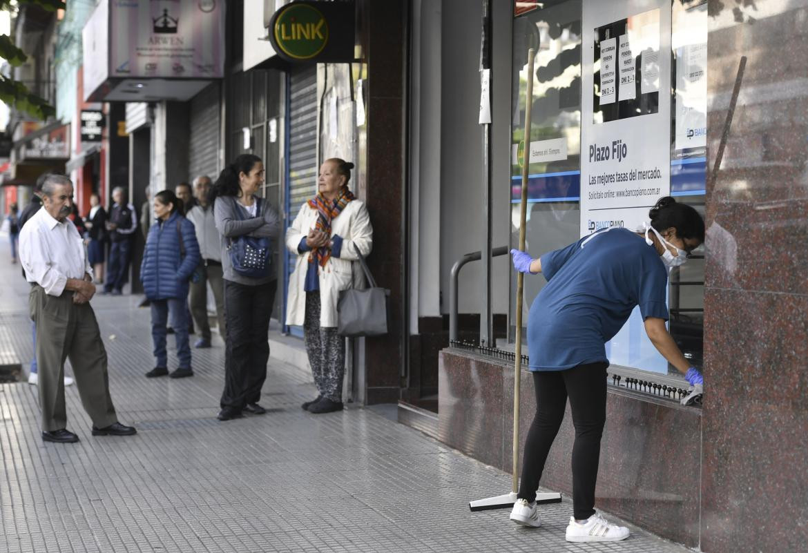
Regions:
<instances>
[{"instance_id":1,"label":"glass window pane left of the Plazo Fijo poster","mask_svg":"<svg viewBox=\"0 0 808 553\"><path fill-rule=\"evenodd\" d=\"M536 48L533 74L528 216L529 252L558 249L579 237L581 182L581 2L572 0L514 19L511 90L511 245L519 244L521 149L528 48ZM524 279L524 318L545 279ZM516 275L511 274L511 298ZM510 341L516 306L510 302ZM527 336L526 332L522 333Z\"/></svg>"}]
</instances>

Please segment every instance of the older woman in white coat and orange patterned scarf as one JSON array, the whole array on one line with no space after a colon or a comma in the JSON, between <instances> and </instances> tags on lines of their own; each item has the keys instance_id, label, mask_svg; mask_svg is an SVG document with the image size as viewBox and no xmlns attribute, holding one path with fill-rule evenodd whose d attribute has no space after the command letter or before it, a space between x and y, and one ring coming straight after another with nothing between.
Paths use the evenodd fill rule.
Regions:
<instances>
[{"instance_id":1,"label":"older woman in white coat and orange patterned scarf","mask_svg":"<svg viewBox=\"0 0 808 553\"><path fill-rule=\"evenodd\" d=\"M337 157L320 165L318 194L301 206L286 231L297 254L289 279L287 325L303 325L306 352L318 396L301 407L310 413L343 408L345 339L337 333L339 291L359 287L358 260L372 248L373 228L364 202L348 190L353 164Z\"/></svg>"}]
</instances>

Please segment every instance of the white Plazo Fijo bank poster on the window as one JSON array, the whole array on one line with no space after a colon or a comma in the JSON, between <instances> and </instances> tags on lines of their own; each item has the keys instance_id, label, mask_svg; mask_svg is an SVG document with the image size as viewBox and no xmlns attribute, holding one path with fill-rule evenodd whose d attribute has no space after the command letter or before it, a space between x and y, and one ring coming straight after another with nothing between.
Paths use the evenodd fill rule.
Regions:
<instances>
[{"instance_id":1,"label":"white Plazo Fijo bank poster on the window","mask_svg":"<svg viewBox=\"0 0 808 553\"><path fill-rule=\"evenodd\" d=\"M604 52L616 38L617 68L627 79L610 105L603 90L598 96L595 79L600 70L603 82ZM583 94L581 117L581 236L600 228L635 230L671 188L671 67L670 56L659 56L671 48L670 2L584 2L583 44L583 90L593 94ZM638 63L641 82L629 83ZM667 373L638 310L607 353L617 365Z\"/></svg>"}]
</instances>

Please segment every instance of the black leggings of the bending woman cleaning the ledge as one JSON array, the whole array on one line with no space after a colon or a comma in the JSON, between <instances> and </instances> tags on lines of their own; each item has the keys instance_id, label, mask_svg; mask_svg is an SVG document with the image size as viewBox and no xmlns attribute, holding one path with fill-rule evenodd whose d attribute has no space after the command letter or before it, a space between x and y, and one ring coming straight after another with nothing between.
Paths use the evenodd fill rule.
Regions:
<instances>
[{"instance_id":1,"label":"black leggings of the bending woman cleaning the ledge","mask_svg":"<svg viewBox=\"0 0 808 553\"><path fill-rule=\"evenodd\" d=\"M578 520L595 514L595 484L598 479L600 437L606 423L605 362L578 365L566 371L536 371L536 417L524 444L519 498L536 499L550 446L564 419L570 398L575 443L572 447L572 501Z\"/></svg>"}]
</instances>

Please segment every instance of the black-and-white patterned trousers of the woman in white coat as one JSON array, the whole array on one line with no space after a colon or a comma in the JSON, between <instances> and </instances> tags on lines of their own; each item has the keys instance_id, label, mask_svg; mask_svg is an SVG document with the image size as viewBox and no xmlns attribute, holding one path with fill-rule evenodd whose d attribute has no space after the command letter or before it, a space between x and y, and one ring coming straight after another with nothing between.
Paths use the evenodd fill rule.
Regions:
<instances>
[{"instance_id":1,"label":"black-and-white patterned trousers of the woman in white coat","mask_svg":"<svg viewBox=\"0 0 808 553\"><path fill-rule=\"evenodd\" d=\"M305 350L318 392L331 401L343 400L345 338L336 327L320 326L320 292L305 293Z\"/></svg>"}]
</instances>

